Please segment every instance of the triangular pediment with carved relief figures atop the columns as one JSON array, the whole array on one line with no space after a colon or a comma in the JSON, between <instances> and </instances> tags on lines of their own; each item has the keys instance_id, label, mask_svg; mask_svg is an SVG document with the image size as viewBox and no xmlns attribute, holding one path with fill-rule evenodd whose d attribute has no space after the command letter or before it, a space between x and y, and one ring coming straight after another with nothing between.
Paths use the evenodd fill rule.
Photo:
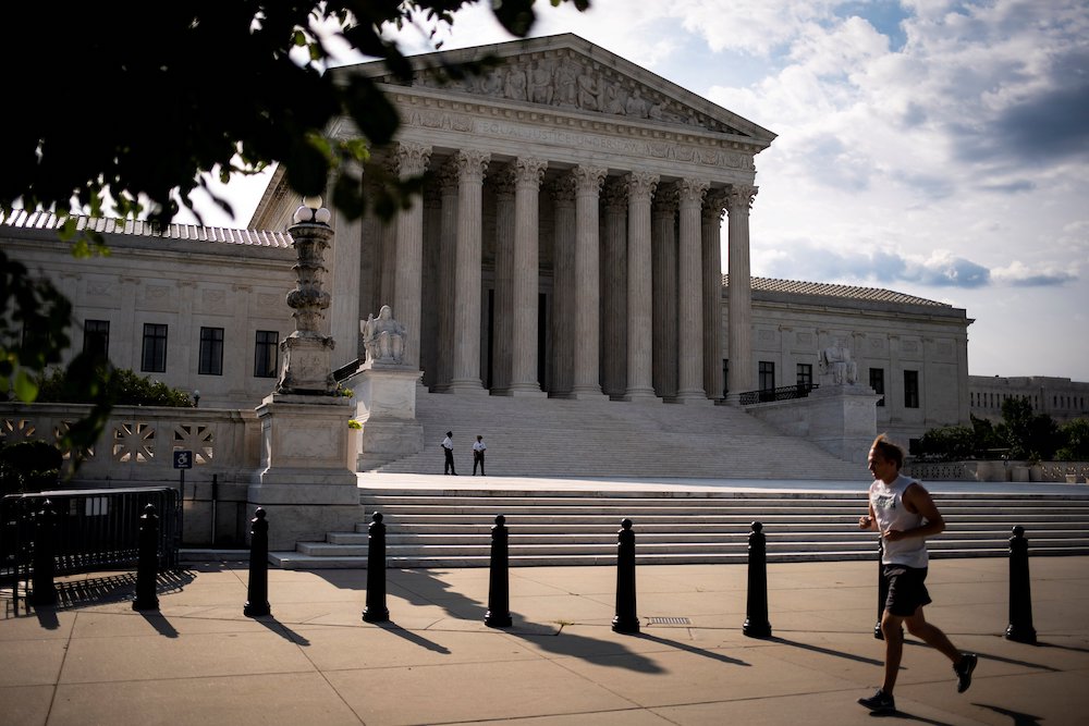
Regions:
<instances>
[{"instance_id":1,"label":"triangular pediment with carved relief figures atop the columns","mask_svg":"<svg viewBox=\"0 0 1089 726\"><path fill-rule=\"evenodd\" d=\"M498 63L482 75L452 81L433 71L485 58ZM729 134L760 146L775 138L751 121L571 34L439 51L411 61L416 69L412 86L443 94ZM377 63L355 70L397 83Z\"/></svg>"}]
</instances>

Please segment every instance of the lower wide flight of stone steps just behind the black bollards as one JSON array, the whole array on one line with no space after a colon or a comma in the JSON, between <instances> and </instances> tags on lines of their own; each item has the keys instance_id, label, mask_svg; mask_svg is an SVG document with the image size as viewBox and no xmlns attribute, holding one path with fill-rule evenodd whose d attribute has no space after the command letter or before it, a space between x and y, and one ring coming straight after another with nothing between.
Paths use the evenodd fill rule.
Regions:
<instances>
[{"instance_id":1,"label":"lower wide flight of stone steps just behind the black bollards","mask_svg":"<svg viewBox=\"0 0 1089 726\"><path fill-rule=\"evenodd\" d=\"M934 493L946 531L934 557L1008 554L1011 530L1025 528L1032 555L1089 554L1089 493L1008 495ZM769 562L867 559L877 536L858 529L865 494L843 492L572 492L364 490L368 514L387 526L389 567L487 567L497 515L510 533L510 563L608 565L629 518L641 564L742 563L759 521ZM272 553L284 569L366 567L368 525L326 542Z\"/></svg>"}]
</instances>

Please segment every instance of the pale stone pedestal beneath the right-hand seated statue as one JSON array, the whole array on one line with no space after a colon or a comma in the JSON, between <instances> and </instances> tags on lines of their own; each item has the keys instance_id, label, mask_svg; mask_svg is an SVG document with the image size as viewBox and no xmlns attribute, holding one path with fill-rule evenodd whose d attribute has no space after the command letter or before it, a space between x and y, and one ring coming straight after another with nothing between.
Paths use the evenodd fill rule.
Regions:
<instances>
[{"instance_id":1,"label":"pale stone pedestal beneath the right-hand seated statue","mask_svg":"<svg viewBox=\"0 0 1089 726\"><path fill-rule=\"evenodd\" d=\"M845 462L865 464L877 436L877 402L867 385L833 385L809 394L808 439Z\"/></svg>"}]
</instances>

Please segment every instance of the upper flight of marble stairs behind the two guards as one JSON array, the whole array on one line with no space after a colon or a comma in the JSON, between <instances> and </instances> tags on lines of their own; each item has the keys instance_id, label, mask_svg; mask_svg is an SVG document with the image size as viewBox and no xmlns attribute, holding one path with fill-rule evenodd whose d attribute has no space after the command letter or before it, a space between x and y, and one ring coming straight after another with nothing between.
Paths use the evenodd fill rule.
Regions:
<instances>
[{"instance_id":1,"label":"upper flight of marble stairs behind the two guards","mask_svg":"<svg viewBox=\"0 0 1089 726\"><path fill-rule=\"evenodd\" d=\"M732 406L419 393L424 450L377 470L442 473L453 431L458 475L473 472L477 434L488 473L505 477L662 477L857 480L849 464Z\"/></svg>"}]
</instances>

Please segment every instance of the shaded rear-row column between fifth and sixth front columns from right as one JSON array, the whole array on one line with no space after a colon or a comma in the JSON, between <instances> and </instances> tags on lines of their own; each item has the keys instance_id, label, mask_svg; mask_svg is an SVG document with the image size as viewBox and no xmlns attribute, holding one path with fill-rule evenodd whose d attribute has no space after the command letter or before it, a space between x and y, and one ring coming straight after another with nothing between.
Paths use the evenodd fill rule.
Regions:
<instances>
[{"instance_id":1,"label":"shaded rear-row column between fifth and sixth front columns from right","mask_svg":"<svg viewBox=\"0 0 1089 726\"><path fill-rule=\"evenodd\" d=\"M495 193L495 296L491 346L491 393L506 395L511 387L511 336L514 331L514 195L515 171L503 167L489 182Z\"/></svg>"}]
</instances>

